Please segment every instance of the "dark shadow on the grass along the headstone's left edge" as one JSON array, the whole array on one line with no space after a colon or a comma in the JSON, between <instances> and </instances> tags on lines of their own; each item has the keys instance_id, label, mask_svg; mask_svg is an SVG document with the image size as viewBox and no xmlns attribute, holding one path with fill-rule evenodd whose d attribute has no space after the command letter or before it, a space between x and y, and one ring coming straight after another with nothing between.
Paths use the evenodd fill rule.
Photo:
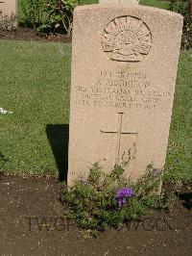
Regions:
<instances>
[{"instance_id":1,"label":"dark shadow on the grass along the headstone's left edge","mask_svg":"<svg viewBox=\"0 0 192 256\"><path fill-rule=\"evenodd\" d=\"M66 181L68 170L69 125L47 124L46 134L58 166L60 181Z\"/></svg>"}]
</instances>

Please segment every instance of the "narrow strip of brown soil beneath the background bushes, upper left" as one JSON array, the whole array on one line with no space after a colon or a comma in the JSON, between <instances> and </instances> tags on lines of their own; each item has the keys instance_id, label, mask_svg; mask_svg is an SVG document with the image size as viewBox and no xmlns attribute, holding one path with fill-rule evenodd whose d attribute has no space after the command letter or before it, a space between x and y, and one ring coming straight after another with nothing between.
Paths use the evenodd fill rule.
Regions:
<instances>
[{"instance_id":1,"label":"narrow strip of brown soil beneath the background bushes, upper left","mask_svg":"<svg viewBox=\"0 0 192 256\"><path fill-rule=\"evenodd\" d=\"M15 31L0 30L0 39L7 40L35 40L50 42L71 42L71 37L66 35L56 35L46 37L37 33L35 29L18 27Z\"/></svg>"}]
</instances>

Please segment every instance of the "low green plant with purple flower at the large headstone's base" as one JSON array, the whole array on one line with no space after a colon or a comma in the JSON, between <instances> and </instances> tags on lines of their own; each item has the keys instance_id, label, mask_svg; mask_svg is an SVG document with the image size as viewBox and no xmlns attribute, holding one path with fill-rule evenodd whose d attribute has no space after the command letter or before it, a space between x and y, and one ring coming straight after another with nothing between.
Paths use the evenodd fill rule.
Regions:
<instances>
[{"instance_id":1,"label":"low green plant with purple flower at the large headstone's base","mask_svg":"<svg viewBox=\"0 0 192 256\"><path fill-rule=\"evenodd\" d=\"M105 174L98 163L93 165L86 180L76 181L68 191L62 191L66 216L96 234L138 219L150 209L163 208L160 196L156 195L160 171L148 166L143 177L134 183L125 179L123 173L122 166Z\"/></svg>"}]
</instances>

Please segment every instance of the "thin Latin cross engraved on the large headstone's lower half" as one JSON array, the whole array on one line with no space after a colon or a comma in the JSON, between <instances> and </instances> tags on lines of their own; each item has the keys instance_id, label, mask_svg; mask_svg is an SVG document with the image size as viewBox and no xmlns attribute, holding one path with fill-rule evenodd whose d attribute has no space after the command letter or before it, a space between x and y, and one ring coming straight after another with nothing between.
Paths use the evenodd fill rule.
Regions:
<instances>
[{"instance_id":1,"label":"thin Latin cross engraved on the large headstone's lower half","mask_svg":"<svg viewBox=\"0 0 192 256\"><path fill-rule=\"evenodd\" d=\"M121 137L123 135L137 135L137 132L123 132L122 131L122 122L123 122L123 112L118 113L118 130L117 131L102 131L102 133L105 134L117 134L116 137L116 159L115 159L115 164L119 164L119 158L120 158L120 148L121 148Z\"/></svg>"}]
</instances>

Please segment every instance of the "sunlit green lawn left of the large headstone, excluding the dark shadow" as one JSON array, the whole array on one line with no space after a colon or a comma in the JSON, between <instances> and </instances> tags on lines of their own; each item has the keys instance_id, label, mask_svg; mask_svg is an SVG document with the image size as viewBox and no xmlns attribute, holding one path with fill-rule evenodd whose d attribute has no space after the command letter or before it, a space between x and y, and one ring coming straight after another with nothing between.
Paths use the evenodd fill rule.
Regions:
<instances>
[{"instance_id":1,"label":"sunlit green lawn left of the large headstone, excluding the dark shadow","mask_svg":"<svg viewBox=\"0 0 192 256\"><path fill-rule=\"evenodd\" d=\"M68 123L71 46L0 41L0 52L0 106L13 112L0 115L0 153L8 160L0 166L58 175L49 141L56 125Z\"/></svg>"}]
</instances>

